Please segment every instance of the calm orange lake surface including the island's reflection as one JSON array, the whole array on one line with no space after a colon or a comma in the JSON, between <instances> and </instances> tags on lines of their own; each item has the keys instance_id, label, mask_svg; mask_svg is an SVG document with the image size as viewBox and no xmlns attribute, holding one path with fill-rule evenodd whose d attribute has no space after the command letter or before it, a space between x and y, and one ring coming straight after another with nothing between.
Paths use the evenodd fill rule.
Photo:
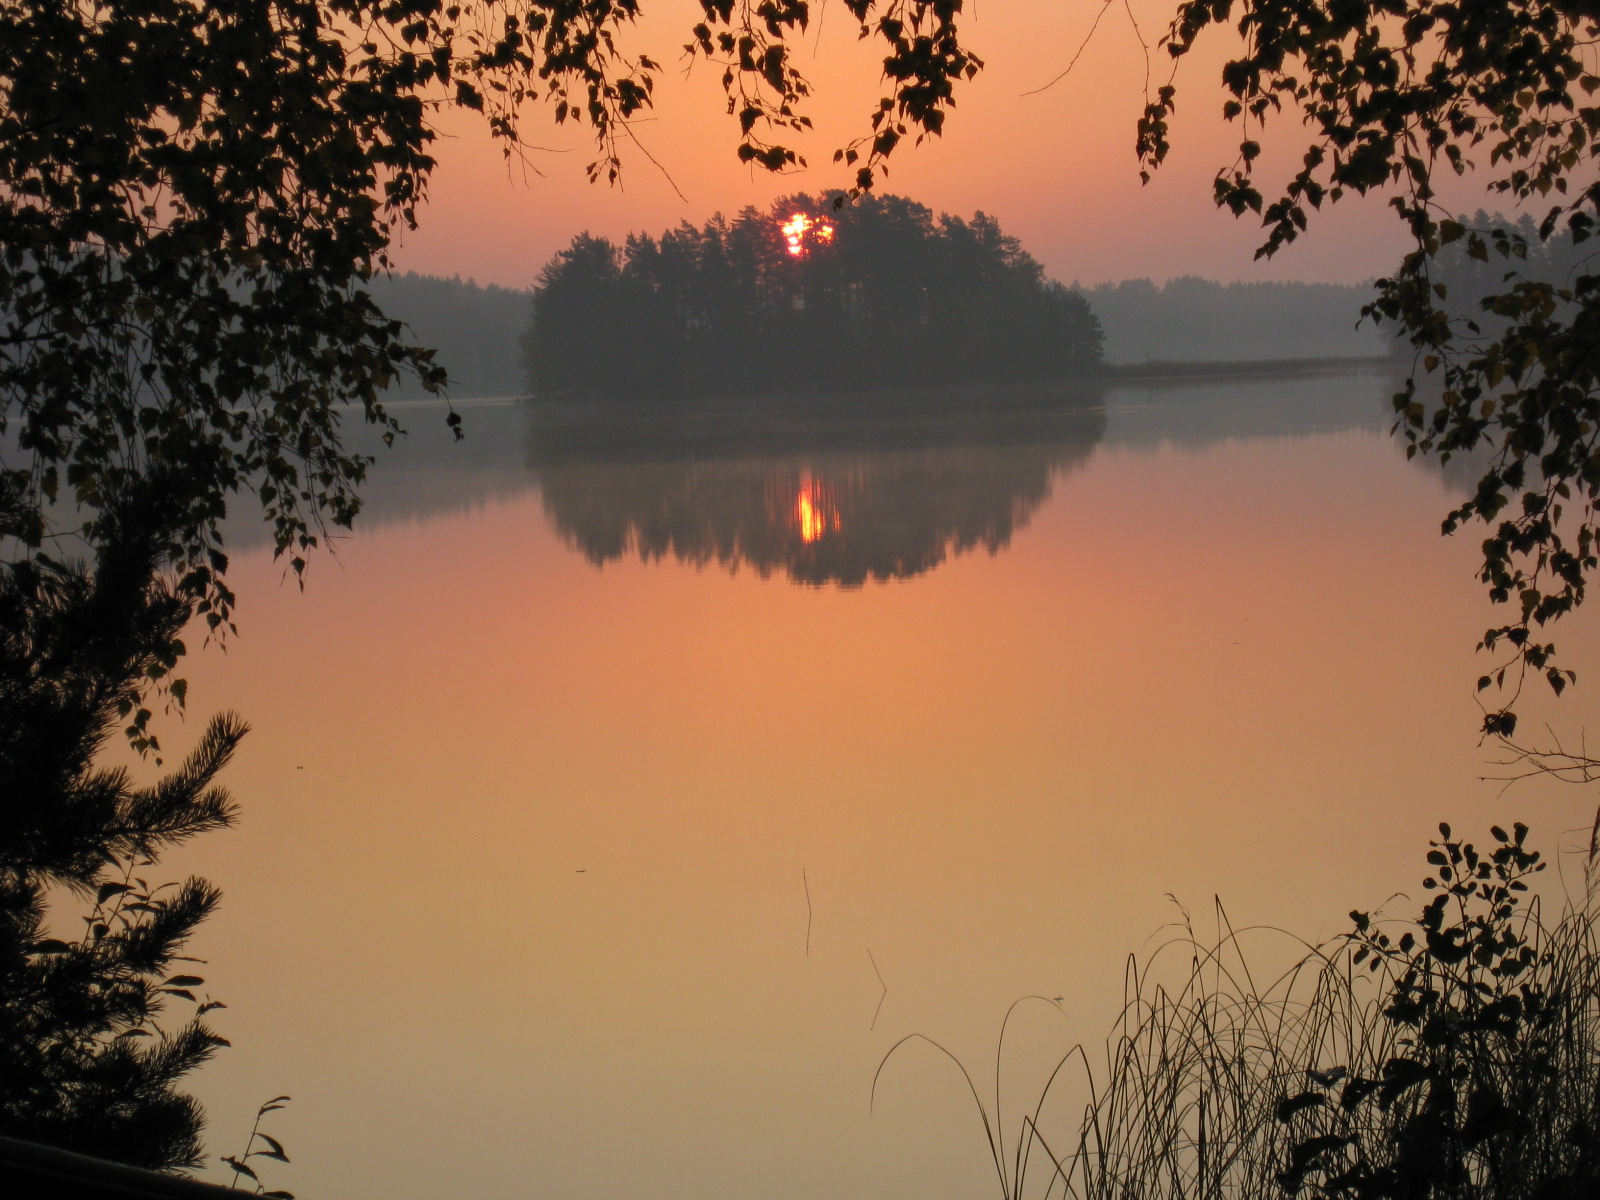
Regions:
<instances>
[{"instance_id":1,"label":"calm orange lake surface including the island's reflection","mask_svg":"<svg viewBox=\"0 0 1600 1200\"><path fill-rule=\"evenodd\" d=\"M987 1195L934 1053L869 1110L904 1035L992 1082L1006 1006L1054 1000L1008 1040L1021 1101L1173 898L1330 936L1442 818L1587 826L1480 779L1491 613L1387 392L712 414L626 461L403 410L360 534L304 594L246 539L242 634L187 664L197 717L254 726L240 829L173 864L226 893L213 1150L288 1093L266 1179L301 1197Z\"/></svg>"}]
</instances>

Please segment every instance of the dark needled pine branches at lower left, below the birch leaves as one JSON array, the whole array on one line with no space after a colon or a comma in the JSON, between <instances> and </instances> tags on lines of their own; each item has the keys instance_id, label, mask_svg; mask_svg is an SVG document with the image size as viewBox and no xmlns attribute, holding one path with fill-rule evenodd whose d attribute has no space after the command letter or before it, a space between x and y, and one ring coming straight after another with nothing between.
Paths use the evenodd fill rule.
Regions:
<instances>
[{"instance_id":1,"label":"dark needled pine branches at lower left, below the birch leaves","mask_svg":"<svg viewBox=\"0 0 1600 1200\"><path fill-rule=\"evenodd\" d=\"M94 766L194 611L150 528L123 506L102 515L93 573L46 555L0 568L0 1133L173 1170L200 1158L202 1112L178 1083L226 1045L203 979L173 965L218 891L146 872L232 822L214 781L245 725L216 717L150 786ZM61 936L50 915L67 896L88 915ZM163 1030L174 1000L195 1008Z\"/></svg>"}]
</instances>

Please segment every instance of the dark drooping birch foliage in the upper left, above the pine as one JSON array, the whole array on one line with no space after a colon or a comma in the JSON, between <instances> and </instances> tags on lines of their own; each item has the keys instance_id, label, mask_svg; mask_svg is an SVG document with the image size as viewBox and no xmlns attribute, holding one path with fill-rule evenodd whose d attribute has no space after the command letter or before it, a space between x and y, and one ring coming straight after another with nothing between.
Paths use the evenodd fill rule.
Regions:
<instances>
[{"instance_id":1,"label":"dark drooping birch foliage in the upper left, above the pine","mask_svg":"<svg viewBox=\"0 0 1600 1200\"><path fill-rule=\"evenodd\" d=\"M862 22L885 10L874 35L893 58L950 69L922 32L958 2L928 21L846 2ZM614 179L618 138L650 106L656 70L618 50L637 14L637 0L6 5L0 432L21 453L0 470L29 499L13 533L40 546L62 494L94 536L155 467L179 589L213 626L232 605L218 534L230 498L261 506L302 571L325 526L354 518L371 462L344 445L344 406L394 437L382 390L402 374L445 384L370 286L426 195L430 110L480 110L517 154L518 114L541 99L557 122L592 126L589 174ZM792 162L755 139L800 118L757 93L803 91L781 35L808 6L752 18L706 0L699 19L696 53L725 66L734 93L754 88L744 157ZM938 90L898 78L891 94L934 118Z\"/></svg>"}]
</instances>

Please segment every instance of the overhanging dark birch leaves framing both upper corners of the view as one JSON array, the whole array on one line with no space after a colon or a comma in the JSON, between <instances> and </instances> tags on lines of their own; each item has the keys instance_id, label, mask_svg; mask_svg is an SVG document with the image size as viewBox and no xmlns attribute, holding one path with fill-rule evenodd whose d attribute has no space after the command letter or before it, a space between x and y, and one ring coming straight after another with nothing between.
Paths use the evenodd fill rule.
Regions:
<instances>
[{"instance_id":1,"label":"overhanging dark birch leaves framing both upper corners of the view","mask_svg":"<svg viewBox=\"0 0 1600 1200\"><path fill-rule=\"evenodd\" d=\"M883 99L835 160L858 189L907 138L938 134L981 61L962 0L843 0L885 50ZM438 104L485 112L507 150L523 102L592 125L594 178L614 178L627 123L658 66L627 56L638 0L86 0L0 5L0 462L37 544L43 502L69 491L94 514L150 466L189 480L171 498L171 554L208 619L227 619L216 522L248 493L302 570L323 523L349 523L368 461L341 440L339 406L395 432L381 390L429 354L363 283L416 216ZM808 126L810 85L790 40L806 0L701 0L685 50L723 70L738 154L781 170ZM1446 530L1482 518L1483 581L1512 618L1485 677L1507 693L1485 728L1510 733L1525 675L1571 672L1538 637L1584 598L1597 565L1600 397L1590 350L1595 275L1517 275L1526 238L1445 213L1440 170L1480 163L1491 190L1546 208L1538 237L1587 238L1600 75L1586 0L1190 0L1165 40L1181 59L1226 24L1242 53L1222 72L1224 115L1245 125L1216 198L1259 213L1272 253L1346 190L1397 189L1416 250L1370 309L1418 347L1397 398L1413 451L1488 440L1496 462ZM1174 90L1152 98L1139 154L1168 149ZM1298 110L1302 168L1275 200L1258 187L1259 126ZM1442 246L1498 259L1490 331L1451 317L1430 264ZM19 453L18 453L19 451Z\"/></svg>"}]
</instances>

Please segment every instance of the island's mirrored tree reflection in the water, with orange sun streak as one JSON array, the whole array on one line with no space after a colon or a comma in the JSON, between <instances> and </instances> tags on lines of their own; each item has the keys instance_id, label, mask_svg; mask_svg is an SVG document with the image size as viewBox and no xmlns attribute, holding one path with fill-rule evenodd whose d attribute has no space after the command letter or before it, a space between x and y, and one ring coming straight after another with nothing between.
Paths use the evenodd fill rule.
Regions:
<instances>
[{"instance_id":1,"label":"island's mirrored tree reflection in the water, with orange sun streak","mask_svg":"<svg viewBox=\"0 0 1600 1200\"><path fill-rule=\"evenodd\" d=\"M1037 416L1030 438L1002 445L568 462L539 482L557 531L592 563L672 555L854 587L1003 549L1106 426L1098 410Z\"/></svg>"}]
</instances>

